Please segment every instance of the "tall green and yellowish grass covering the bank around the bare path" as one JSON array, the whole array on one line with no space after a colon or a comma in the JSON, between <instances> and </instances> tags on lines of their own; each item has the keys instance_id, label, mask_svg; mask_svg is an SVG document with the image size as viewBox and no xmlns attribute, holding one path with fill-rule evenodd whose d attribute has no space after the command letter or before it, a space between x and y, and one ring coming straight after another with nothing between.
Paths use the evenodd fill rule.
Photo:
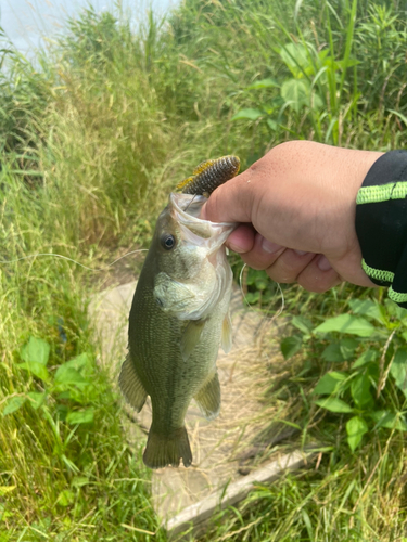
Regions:
<instances>
[{"instance_id":1,"label":"tall green and yellowish grass covering the bank around the bare path","mask_svg":"<svg viewBox=\"0 0 407 542\"><path fill-rule=\"evenodd\" d=\"M88 8L35 66L3 38L1 541L166 539L141 449L125 441L119 398L98 369L91 339L87 300L114 273L51 257L18 259L58 253L100 268L148 246L168 192L207 157L236 153L245 168L288 139L405 146L407 28L399 9L356 0L255 0L250 9L239 0L189 0L165 21L150 13L135 30L123 16ZM128 266L136 274L140 259ZM256 273L249 287L253 300L274 295ZM285 314L314 327L348 312L352 299L383 305L382 293L361 288L284 292ZM379 327L380 338L358 343L359 350L382 356L391 327ZM267 401L295 405L302 441L325 443L318 468L256 488L239 509L219 513L206 539L403 541L404 433L371 424L352 452L348 417L316 408L313 396L327 371L352 369L321 358L343 336L304 336L285 380L276 387L270 375ZM29 344L49 347L47 359L27 362ZM395 351L383 354L384 366ZM392 376L372 408L404 413Z\"/></svg>"}]
</instances>

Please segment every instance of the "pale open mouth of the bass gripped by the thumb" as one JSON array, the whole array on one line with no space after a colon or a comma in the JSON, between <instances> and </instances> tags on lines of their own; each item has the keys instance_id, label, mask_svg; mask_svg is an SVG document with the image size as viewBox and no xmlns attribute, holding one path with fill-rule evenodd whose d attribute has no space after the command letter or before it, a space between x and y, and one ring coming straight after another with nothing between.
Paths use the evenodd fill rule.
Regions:
<instances>
[{"instance_id":1,"label":"pale open mouth of the bass gripped by the thumb","mask_svg":"<svg viewBox=\"0 0 407 542\"><path fill-rule=\"evenodd\" d=\"M198 246L205 247L208 255L216 251L238 227L234 222L211 222L200 217L205 196L191 194L169 195L169 209L179 224L181 236Z\"/></svg>"}]
</instances>

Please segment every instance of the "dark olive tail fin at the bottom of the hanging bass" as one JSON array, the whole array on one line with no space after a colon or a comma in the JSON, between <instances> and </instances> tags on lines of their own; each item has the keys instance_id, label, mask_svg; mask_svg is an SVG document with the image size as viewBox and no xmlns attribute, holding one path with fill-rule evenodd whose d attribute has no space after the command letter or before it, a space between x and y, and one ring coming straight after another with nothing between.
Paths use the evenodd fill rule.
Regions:
<instances>
[{"instance_id":1,"label":"dark olive tail fin at the bottom of the hanging bass","mask_svg":"<svg viewBox=\"0 0 407 542\"><path fill-rule=\"evenodd\" d=\"M186 467L192 463L187 429L180 427L169 435L162 435L154 431L153 426L151 426L143 453L144 465L150 468L162 468L167 465L178 467L181 459Z\"/></svg>"}]
</instances>

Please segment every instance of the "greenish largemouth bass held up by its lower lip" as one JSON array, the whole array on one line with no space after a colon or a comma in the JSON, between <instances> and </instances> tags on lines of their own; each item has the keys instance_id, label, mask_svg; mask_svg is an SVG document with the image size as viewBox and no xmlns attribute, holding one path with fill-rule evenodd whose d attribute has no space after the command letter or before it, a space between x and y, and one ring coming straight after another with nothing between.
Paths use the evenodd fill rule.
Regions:
<instances>
[{"instance_id":1,"label":"greenish largemouth bass held up by its lower lip","mask_svg":"<svg viewBox=\"0 0 407 542\"><path fill-rule=\"evenodd\" d=\"M207 170L206 178L212 179L218 160L206 162L193 176ZM221 182L234 171L234 165L229 176L224 168ZM200 218L207 201L202 193L209 194L217 185L216 179L211 180L211 186L202 177L200 182L193 194L169 194L129 314L128 353L119 386L138 412L147 397L151 398L152 423L143 452L143 462L150 468L178 467L181 461L186 467L191 465L185 425L188 406L194 399L206 418L219 414L216 359L219 346L227 353L232 346L232 271L225 241L237 224Z\"/></svg>"}]
</instances>

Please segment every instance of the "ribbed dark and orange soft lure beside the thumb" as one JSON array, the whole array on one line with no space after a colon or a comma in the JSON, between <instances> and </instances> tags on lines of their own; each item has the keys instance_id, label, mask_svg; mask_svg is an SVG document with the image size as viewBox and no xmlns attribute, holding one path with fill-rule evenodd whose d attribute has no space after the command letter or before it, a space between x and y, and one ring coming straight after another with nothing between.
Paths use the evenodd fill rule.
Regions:
<instances>
[{"instance_id":1,"label":"ribbed dark and orange soft lure beside the thumb","mask_svg":"<svg viewBox=\"0 0 407 542\"><path fill-rule=\"evenodd\" d=\"M183 194L194 194L209 196L215 189L224 182L229 181L238 175L240 159L238 156L222 156L215 160L206 160L200 164L192 176L181 181L178 190Z\"/></svg>"}]
</instances>

